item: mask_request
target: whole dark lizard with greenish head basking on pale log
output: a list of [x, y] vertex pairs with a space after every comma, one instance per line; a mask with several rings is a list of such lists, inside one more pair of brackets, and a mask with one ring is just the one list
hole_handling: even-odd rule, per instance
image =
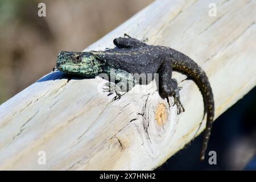
[[[159, 94], [167, 100], [168, 97], [174, 97], [177, 114], [185, 110], [180, 102], [179, 90], [181, 88], [177, 80], [172, 78], [172, 71], [187, 75], [199, 87], [204, 101], [204, 115], [207, 113], [200, 152], [200, 160], [204, 160], [214, 118], [214, 98], [210, 82], [203, 69], [184, 53], [169, 47], [151, 46], [127, 34], [124, 37], [115, 38], [113, 43], [115, 48], [105, 51], [61, 51], [57, 56], [56, 68], [68, 75], [82, 77], [95, 77], [100, 73], [107, 73], [111, 76], [110, 69], [115, 69], [116, 82], [128, 81], [127, 73], [158, 73]], [[121, 98], [119, 93], [121, 88], [114, 89], [117, 98]]]

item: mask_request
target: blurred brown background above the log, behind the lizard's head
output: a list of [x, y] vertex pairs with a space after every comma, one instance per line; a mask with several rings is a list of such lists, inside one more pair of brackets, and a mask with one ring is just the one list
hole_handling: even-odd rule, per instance
[[0, 104], [50, 72], [59, 51], [82, 51], [152, 1], [0, 0]]

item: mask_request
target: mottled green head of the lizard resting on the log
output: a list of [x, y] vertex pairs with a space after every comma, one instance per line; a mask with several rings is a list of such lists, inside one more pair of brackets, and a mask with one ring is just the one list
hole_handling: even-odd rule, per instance
[[94, 77], [102, 71], [101, 66], [91, 52], [61, 51], [57, 56], [57, 69], [69, 75]]

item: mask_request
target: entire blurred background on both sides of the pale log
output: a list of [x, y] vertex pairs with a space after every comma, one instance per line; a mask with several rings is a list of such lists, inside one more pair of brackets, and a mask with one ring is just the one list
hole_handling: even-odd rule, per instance
[[[81, 51], [152, 1], [48, 0], [41, 18], [42, 1], [0, 0], [0, 104], [50, 72], [59, 51]], [[200, 136], [158, 169], [243, 169], [256, 151], [255, 96], [254, 88], [214, 123], [216, 166], [199, 161]]]

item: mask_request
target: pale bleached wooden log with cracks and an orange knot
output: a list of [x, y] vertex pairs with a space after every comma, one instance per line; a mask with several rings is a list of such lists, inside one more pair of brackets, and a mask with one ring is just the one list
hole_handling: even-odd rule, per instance
[[[216, 17], [208, 15], [209, 3], [216, 3]], [[255, 1], [156, 1], [87, 49], [113, 47], [127, 33], [185, 53], [207, 72], [218, 117], [256, 84], [255, 12]], [[197, 86], [174, 77], [183, 86], [178, 116], [152, 85], [112, 102], [100, 78], [67, 82], [49, 73], [0, 106], [0, 169], [156, 168], [205, 125], [199, 129]], [[38, 164], [39, 151], [46, 165]]]

